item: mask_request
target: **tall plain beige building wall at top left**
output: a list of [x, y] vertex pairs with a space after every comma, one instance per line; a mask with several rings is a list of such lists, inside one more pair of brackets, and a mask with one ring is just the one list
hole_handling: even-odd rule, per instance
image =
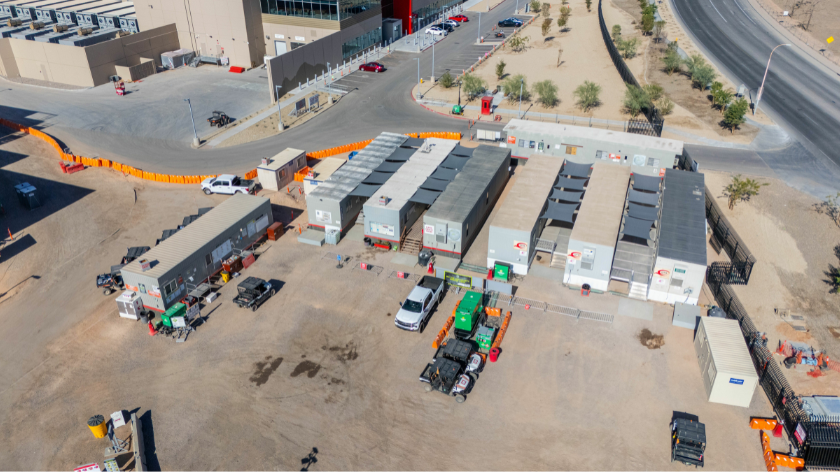
[[175, 24], [181, 47], [251, 68], [265, 55], [259, 0], [136, 0], [139, 24]]

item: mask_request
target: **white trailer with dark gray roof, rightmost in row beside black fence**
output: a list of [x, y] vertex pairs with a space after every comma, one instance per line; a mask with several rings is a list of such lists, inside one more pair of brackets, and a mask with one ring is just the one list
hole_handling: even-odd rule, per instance
[[648, 299], [696, 305], [706, 277], [703, 174], [665, 171], [659, 243]]

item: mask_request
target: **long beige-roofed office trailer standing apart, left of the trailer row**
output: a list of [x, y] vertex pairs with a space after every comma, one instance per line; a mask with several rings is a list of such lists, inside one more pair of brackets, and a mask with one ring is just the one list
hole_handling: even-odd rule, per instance
[[[165, 311], [222, 270], [222, 260], [251, 247], [274, 222], [267, 198], [237, 194], [122, 268], [127, 290], [150, 310]], [[143, 261], [149, 269], [143, 270]]]

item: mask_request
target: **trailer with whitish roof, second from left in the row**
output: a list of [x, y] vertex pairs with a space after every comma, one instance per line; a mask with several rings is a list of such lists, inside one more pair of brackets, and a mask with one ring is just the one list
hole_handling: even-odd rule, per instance
[[403, 230], [411, 228], [429, 205], [412, 198], [457, 144], [451, 139], [427, 139], [365, 203], [365, 236], [399, 244]]

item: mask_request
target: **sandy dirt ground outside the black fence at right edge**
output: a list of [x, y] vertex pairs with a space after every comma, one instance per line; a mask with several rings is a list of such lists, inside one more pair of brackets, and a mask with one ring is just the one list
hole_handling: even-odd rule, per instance
[[[730, 174], [705, 175], [709, 190], [721, 196]], [[726, 208], [724, 197], [718, 199], [724, 215], [758, 261], [749, 283], [734, 286], [735, 293], [756, 326], [766, 331], [771, 350], [779, 340], [787, 339], [826, 349], [832, 359], [840, 356], [840, 339], [835, 334], [840, 333], [840, 295], [829, 294], [830, 287], [824, 282], [829, 264], [840, 264], [834, 256], [840, 228], [814, 210], [819, 200], [776, 179], [758, 180], [769, 185], [733, 211]], [[806, 317], [809, 332], [795, 331], [776, 315], [777, 308]], [[830, 395], [840, 389], [840, 373], [829, 370], [826, 377], [813, 379], [806, 375], [808, 370], [800, 366], [785, 371], [796, 393]]]

